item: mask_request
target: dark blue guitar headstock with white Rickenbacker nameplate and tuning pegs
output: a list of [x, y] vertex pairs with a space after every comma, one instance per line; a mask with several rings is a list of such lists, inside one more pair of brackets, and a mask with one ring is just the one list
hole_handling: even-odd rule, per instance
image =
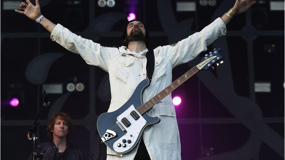
[[205, 57], [202, 58], [202, 61], [196, 66], [199, 70], [206, 69], [208, 70], [210, 67], [214, 69], [214, 67], [219, 66], [224, 61], [221, 61], [224, 57], [222, 57], [219, 52], [222, 51], [221, 48], [214, 49], [213, 52], [206, 54]]

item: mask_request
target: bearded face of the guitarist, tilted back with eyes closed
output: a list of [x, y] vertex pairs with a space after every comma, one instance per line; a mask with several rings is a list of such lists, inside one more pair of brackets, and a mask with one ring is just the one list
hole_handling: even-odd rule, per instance
[[130, 42], [145, 42], [145, 26], [139, 22], [139, 21], [133, 21], [127, 26], [127, 37], [126, 37], [126, 43]]

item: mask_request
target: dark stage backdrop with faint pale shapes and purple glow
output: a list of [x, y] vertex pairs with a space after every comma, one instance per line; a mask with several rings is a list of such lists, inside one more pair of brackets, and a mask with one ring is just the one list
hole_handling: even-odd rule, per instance
[[[115, 0], [113, 7], [100, 7], [98, 0], [39, 1], [46, 18], [106, 47], [121, 46], [128, 14], [135, 13], [147, 25], [153, 48], [200, 31], [234, 2]], [[26, 134], [41, 108], [43, 89], [51, 105], [41, 115], [38, 141], [48, 140], [51, 115], [67, 112], [75, 125], [69, 142], [90, 159], [98, 152], [97, 118], [110, 104], [108, 73], [15, 13], [18, 3], [1, 1], [1, 159], [27, 159], [32, 151]], [[173, 69], [173, 80], [213, 48], [222, 48], [223, 65], [197, 73], [172, 93], [182, 99], [175, 106], [182, 159], [284, 159], [284, 1], [258, 0], [234, 17], [225, 36]], [[10, 105], [12, 98], [18, 106]]]

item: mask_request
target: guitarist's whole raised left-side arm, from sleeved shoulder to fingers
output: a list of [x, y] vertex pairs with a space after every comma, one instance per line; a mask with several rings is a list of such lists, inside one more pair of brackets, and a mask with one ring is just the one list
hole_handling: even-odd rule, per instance
[[[39, 0], [36, 0], [36, 6], [29, 0], [26, 1], [27, 3], [22, 2], [20, 4], [20, 8], [24, 11], [15, 10], [15, 12], [24, 14], [31, 20], [36, 20], [41, 16]], [[117, 48], [103, 47], [91, 40], [77, 36], [62, 25], [55, 25], [46, 17], [42, 17], [39, 23], [51, 32], [51, 39], [53, 41], [56, 41], [71, 52], [80, 54], [87, 64], [99, 66], [105, 71], [108, 71], [111, 58], [119, 53]]]

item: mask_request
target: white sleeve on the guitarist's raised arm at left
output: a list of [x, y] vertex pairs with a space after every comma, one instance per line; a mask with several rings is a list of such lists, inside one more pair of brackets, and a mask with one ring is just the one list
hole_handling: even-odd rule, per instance
[[67, 50], [80, 54], [87, 64], [99, 66], [107, 72], [111, 59], [119, 53], [118, 48], [103, 47], [92, 40], [77, 36], [60, 24], [51, 32], [51, 39]]

